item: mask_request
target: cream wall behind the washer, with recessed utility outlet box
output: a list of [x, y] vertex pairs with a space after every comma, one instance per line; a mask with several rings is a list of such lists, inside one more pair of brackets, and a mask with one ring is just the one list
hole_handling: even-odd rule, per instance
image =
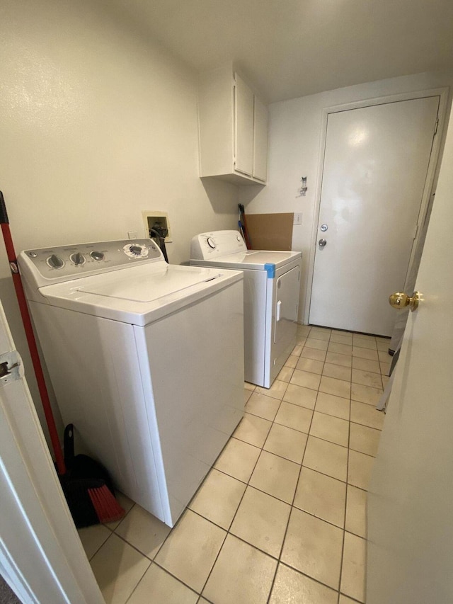
[[[139, 23], [109, 3], [4, 0], [0, 49], [0, 190], [16, 252], [143, 237], [142, 210], [160, 210], [180, 263], [194, 234], [236, 226], [237, 188], [198, 178], [195, 74]], [[36, 402], [1, 242], [0, 285]]]

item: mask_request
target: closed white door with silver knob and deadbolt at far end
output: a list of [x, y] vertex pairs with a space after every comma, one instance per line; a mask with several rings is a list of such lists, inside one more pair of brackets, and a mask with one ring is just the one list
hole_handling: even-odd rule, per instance
[[439, 101], [328, 115], [310, 324], [391, 336], [387, 299], [404, 286]]

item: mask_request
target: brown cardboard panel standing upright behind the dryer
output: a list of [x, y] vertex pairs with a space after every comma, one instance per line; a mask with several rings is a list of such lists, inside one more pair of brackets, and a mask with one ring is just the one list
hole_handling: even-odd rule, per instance
[[247, 214], [252, 249], [291, 251], [294, 214]]

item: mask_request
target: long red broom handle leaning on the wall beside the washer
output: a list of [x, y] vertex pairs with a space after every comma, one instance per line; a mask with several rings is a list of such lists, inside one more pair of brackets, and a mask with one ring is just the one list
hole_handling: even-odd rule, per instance
[[38, 354], [38, 347], [36, 346], [35, 334], [33, 334], [33, 326], [31, 324], [30, 313], [28, 312], [28, 306], [27, 301], [25, 299], [25, 293], [23, 291], [21, 275], [19, 274], [18, 270], [16, 252], [14, 251], [13, 239], [11, 238], [11, 232], [9, 230], [9, 222], [8, 215], [6, 214], [5, 200], [1, 191], [0, 224], [1, 232], [3, 233], [3, 238], [5, 241], [6, 254], [8, 256], [9, 266], [11, 268], [11, 274], [13, 275], [14, 289], [16, 290], [19, 309], [21, 310], [23, 326], [25, 328], [25, 336], [27, 336], [28, 348], [30, 348], [31, 360], [33, 362], [33, 368], [35, 370], [36, 381], [38, 382], [38, 389], [42, 401], [42, 409], [44, 409], [45, 421], [47, 422], [47, 428], [49, 428], [50, 440], [52, 442], [52, 448], [55, 453], [57, 470], [58, 474], [62, 476], [62, 474], [66, 474], [66, 466], [64, 465], [62, 448], [59, 444], [57, 426], [55, 426], [55, 418], [52, 414], [52, 406], [50, 405], [49, 394], [47, 393], [44, 374], [42, 373], [40, 355]]

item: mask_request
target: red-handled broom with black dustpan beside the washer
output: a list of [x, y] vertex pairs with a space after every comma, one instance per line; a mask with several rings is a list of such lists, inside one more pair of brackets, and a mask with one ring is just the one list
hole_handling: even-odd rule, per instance
[[[1, 191], [0, 224], [9, 266], [13, 276], [14, 289], [16, 290], [19, 309], [21, 311], [25, 336], [27, 337], [28, 348], [30, 349], [36, 381], [38, 382], [42, 409], [44, 410], [45, 421], [47, 423], [47, 428], [49, 428], [50, 442], [52, 443], [52, 449], [55, 454], [57, 474], [59, 476], [60, 484], [62, 485], [64, 496], [67, 500], [69, 511], [71, 512], [76, 527], [79, 528], [120, 520], [120, 518], [125, 515], [125, 511], [120, 504], [117, 503], [115, 496], [113, 495], [113, 485], [107, 470], [98, 462], [86, 457], [86, 455], [76, 455], [76, 457], [74, 457], [74, 444], [72, 444], [71, 448], [69, 437], [69, 431], [71, 432], [71, 435], [74, 432], [72, 424], [69, 424], [70, 428], [67, 426], [68, 435], [66, 439], [68, 447], [67, 459], [71, 464], [71, 469], [69, 471], [64, 462], [62, 449], [59, 444], [57, 426], [55, 426], [55, 418], [52, 413], [52, 406], [50, 405], [44, 374], [42, 373], [42, 366], [38, 354], [38, 347], [36, 346], [35, 334], [33, 333], [30, 313], [28, 312], [27, 301], [23, 291], [21, 275], [19, 274], [16, 251], [14, 250], [13, 239], [11, 238], [9, 229], [5, 200]], [[86, 459], [78, 461], [79, 457], [85, 457]], [[87, 462], [87, 460], [90, 460], [90, 462]]]

